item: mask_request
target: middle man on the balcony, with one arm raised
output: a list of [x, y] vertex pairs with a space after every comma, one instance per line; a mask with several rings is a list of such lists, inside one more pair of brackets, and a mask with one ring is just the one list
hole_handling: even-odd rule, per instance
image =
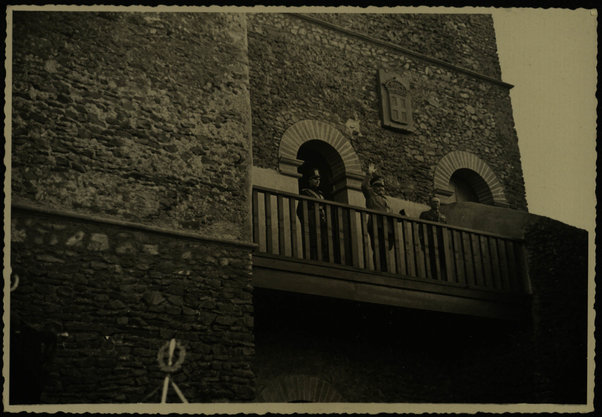
[[[385, 180], [380, 175], [375, 174], [375, 168], [373, 164], [368, 166], [368, 174], [364, 178], [364, 182], [362, 183], [362, 192], [364, 193], [364, 197], [366, 198], [366, 208], [371, 210], [378, 210], [384, 213], [388, 213], [391, 211], [389, 206], [389, 201], [385, 196]], [[388, 218], [387, 219], [387, 227], [388, 233], [387, 238], [389, 244], [385, 244], [385, 231], [384, 231], [384, 216], [376, 217], [376, 229], [377, 236], [374, 236], [374, 228], [372, 217], [374, 214], [370, 215], [370, 219], [368, 220], [368, 234], [370, 235], [370, 240], [372, 242], [372, 251], [374, 252], [374, 263], [376, 265], [376, 257], [380, 261], [380, 268], [382, 271], [387, 271], [387, 251], [393, 248], [394, 242], [394, 233], [393, 233], [393, 221]], [[378, 239], [378, 255], [376, 254], [375, 240]]]

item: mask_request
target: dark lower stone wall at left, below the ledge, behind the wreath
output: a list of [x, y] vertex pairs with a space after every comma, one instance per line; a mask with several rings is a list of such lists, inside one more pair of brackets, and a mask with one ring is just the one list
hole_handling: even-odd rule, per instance
[[58, 335], [42, 402], [140, 402], [171, 338], [188, 401], [254, 397], [249, 248], [15, 210], [11, 261], [12, 315]]

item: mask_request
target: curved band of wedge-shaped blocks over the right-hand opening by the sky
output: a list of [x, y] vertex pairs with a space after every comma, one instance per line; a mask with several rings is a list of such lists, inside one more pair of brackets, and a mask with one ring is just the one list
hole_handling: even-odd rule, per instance
[[449, 190], [449, 180], [459, 169], [470, 169], [476, 172], [489, 187], [493, 202], [507, 204], [504, 187], [493, 170], [478, 156], [466, 151], [453, 151], [445, 155], [435, 168], [433, 185], [435, 190]]

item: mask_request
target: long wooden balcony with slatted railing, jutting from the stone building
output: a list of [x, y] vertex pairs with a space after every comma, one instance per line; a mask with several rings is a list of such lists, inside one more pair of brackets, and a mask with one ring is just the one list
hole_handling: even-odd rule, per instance
[[253, 188], [253, 283], [412, 309], [520, 319], [524, 242]]

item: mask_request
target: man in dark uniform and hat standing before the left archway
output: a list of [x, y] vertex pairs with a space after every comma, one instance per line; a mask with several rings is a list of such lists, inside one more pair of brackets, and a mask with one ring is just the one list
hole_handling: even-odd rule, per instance
[[[324, 200], [324, 195], [320, 191], [320, 171], [317, 169], [311, 169], [306, 172], [301, 179], [302, 188], [301, 195]], [[302, 229], [302, 241], [303, 248], [305, 251], [306, 239], [309, 236], [309, 254], [305, 253], [306, 259], [318, 259], [318, 228], [316, 224], [315, 210], [318, 210], [318, 216], [320, 219], [320, 244], [322, 248], [322, 259], [328, 261], [328, 228], [326, 223], [326, 211], [322, 204], [314, 203], [313, 201], [307, 202], [307, 219], [303, 213], [303, 201], [299, 202], [297, 206], [297, 216], [301, 222]], [[307, 233], [306, 233], [307, 232]]]

